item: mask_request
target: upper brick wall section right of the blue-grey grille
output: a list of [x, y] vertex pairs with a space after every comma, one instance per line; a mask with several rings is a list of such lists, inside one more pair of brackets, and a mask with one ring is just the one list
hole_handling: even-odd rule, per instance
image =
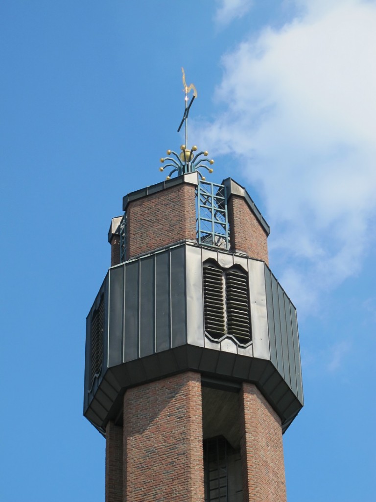
[[231, 250], [269, 264], [265, 230], [243, 197], [232, 195], [228, 203]]

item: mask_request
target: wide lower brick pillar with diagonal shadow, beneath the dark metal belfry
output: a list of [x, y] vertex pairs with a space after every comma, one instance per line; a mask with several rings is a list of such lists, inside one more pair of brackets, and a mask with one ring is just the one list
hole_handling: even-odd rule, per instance
[[124, 396], [124, 500], [203, 502], [201, 377], [185, 372]]

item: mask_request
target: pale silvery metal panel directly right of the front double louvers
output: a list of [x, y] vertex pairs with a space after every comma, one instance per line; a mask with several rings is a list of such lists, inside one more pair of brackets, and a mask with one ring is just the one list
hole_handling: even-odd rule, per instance
[[264, 262], [248, 261], [254, 357], [270, 359]]

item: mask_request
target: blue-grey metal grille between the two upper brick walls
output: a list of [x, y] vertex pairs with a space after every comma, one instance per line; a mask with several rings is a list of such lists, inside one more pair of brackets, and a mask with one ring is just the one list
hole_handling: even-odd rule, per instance
[[199, 181], [197, 187], [197, 240], [201, 244], [229, 248], [226, 187]]

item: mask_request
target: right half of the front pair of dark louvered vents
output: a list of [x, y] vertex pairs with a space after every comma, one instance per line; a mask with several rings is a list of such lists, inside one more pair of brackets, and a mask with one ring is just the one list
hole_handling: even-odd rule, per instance
[[251, 340], [248, 278], [240, 270], [226, 272], [227, 327], [240, 343]]

